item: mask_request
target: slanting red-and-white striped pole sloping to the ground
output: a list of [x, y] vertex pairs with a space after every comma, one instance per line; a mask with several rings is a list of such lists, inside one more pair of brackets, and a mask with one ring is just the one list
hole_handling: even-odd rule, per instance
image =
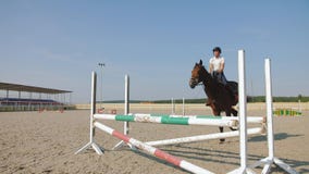
[[154, 156], [154, 157], [157, 157], [157, 158], [159, 158], [161, 160], [164, 160], [164, 161], [166, 161], [166, 162], [169, 162], [169, 163], [171, 163], [173, 165], [182, 167], [182, 169], [184, 169], [184, 170], [186, 170], [188, 172], [196, 173], [196, 174], [201, 174], [201, 173], [202, 174], [213, 174], [212, 172], [210, 172], [210, 171], [208, 171], [206, 169], [202, 169], [200, 166], [191, 164], [191, 163], [189, 163], [189, 162], [187, 162], [185, 160], [181, 160], [181, 159], [178, 159], [178, 158], [176, 158], [176, 157], [174, 157], [172, 154], [169, 154], [169, 153], [166, 153], [164, 151], [161, 151], [160, 149], [157, 149], [157, 148], [154, 148], [152, 146], [146, 145], [146, 144], [144, 144], [144, 142], [137, 140], [137, 139], [131, 138], [131, 137], [128, 137], [128, 136], [126, 136], [126, 135], [124, 135], [124, 134], [122, 134], [120, 132], [116, 132], [113, 128], [108, 127], [108, 126], [106, 126], [106, 125], [103, 125], [103, 124], [101, 124], [99, 122], [95, 122], [95, 126], [97, 128], [99, 128], [99, 129], [110, 134], [113, 137], [116, 137], [116, 138], [121, 139], [121, 140], [127, 142], [127, 144], [131, 144], [131, 145], [135, 146], [136, 148], [138, 148], [138, 149], [140, 149], [140, 150], [143, 150], [143, 151], [145, 151], [145, 152], [147, 152], [147, 153], [149, 153], [151, 156]]

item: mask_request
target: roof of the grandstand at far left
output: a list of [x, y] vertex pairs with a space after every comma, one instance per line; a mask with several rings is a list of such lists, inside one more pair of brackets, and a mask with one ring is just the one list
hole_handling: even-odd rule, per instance
[[28, 92], [40, 92], [40, 94], [67, 94], [72, 92], [69, 90], [51, 89], [36, 86], [18, 85], [0, 83], [0, 90], [13, 90], [13, 91], [28, 91]]

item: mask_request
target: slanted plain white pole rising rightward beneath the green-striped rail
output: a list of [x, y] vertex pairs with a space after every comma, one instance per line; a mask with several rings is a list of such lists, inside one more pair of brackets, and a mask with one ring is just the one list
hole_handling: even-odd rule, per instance
[[[264, 134], [264, 132], [265, 132], [264, 127], [257, 127], [257, 128], [249, 128], [247, 130], [247, 134], [256, 135], [256, 134]], [[196, 142], [196, 141], [203, 141], [203, 140], [211, 140], [211, 139], [231, 138], [231, 137], [238, 137], [238, 136], [239, 136], [239, 130], [235, 130], [235, 132], [215, 133], [215, 134], [208, 134], [208, 135], [197, 135], [197, 136], [191, 136], [191, 137], [148, 141], [145, 144], [150, 145], [150, 146], [163, 146], [163, 145]]]

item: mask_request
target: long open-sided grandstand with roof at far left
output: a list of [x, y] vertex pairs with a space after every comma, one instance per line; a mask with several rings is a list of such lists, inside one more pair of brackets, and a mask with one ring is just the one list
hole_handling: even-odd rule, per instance
[[0, 83], [0, 111], [66, 110], [72, 91]]

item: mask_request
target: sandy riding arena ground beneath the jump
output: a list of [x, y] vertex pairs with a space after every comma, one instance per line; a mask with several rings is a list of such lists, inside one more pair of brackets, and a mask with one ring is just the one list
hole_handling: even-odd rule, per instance
[[[162, 112], [153, 109], [151, 111]], [[145, 110], [133, 109], [132, 112]], [[199, 110], [187, 111], [187, 114], [210, 114], [210, 110], [200, 107]], [[262, 110], [248, 111], [248, 115], [264, 114]], [[275, 156], [297, 172], [309, 173], [309, 112], [305, 111], [304, 115], [274, 117]], [[122, 122], [100, 122], [118, 130], [123, 127]], [[141, 141], [218, 132], [218, 127], [210, 126], [131, 123], [131, 136]], [[258, 135], [248, 139], [250, 163], [267, 157], [265, 136]], [[88, 110], [64, 113], [0, 112], [0, 173], [187, 173], [127, 147], [112, 151], [119, 140], [100, 130], [96, 132], [96, 141], [104, 148], [103, 156], [98, 156], [94, 150], [74, 154], [88, 140]], [[223, 145], [219, 145], [219, 140], [210, 140], [163, 146], [160, 149], [215, 173], [226, 173], [239, 166], [238, 138], [228, 138]], [[255, 171], [261, 172], [261, 169]], [[284, 173], [275, 167], [272, 172]]]

